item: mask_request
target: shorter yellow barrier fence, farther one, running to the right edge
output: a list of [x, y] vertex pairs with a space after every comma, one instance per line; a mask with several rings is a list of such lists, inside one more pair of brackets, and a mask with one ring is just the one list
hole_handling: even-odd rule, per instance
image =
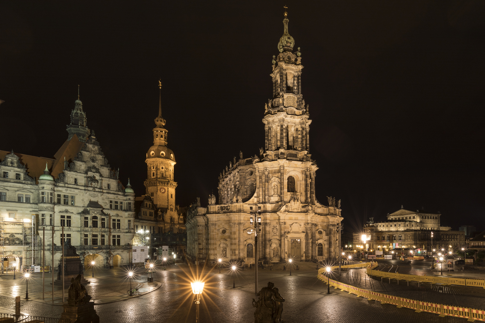
[[378, 270], [372, 270], [370, 268], [367, 268], [367, 274], [372, 276], [410, 280], [410, 281], [419, 281], [419, 282], [432, 283], [432, 284], [439, 283], [439, 284], [475, 286], [475, 287], [485, 288], [485, 279], [406, 275], [406, 274], [382, 272]]

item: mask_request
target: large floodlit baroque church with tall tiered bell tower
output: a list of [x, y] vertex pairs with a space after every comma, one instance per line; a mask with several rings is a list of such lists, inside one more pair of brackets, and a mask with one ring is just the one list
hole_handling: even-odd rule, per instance
[[[218, 201], [187, 211], [187, 256], [243, 264], [330, 261], [340, 250], [340, 202], [316, 198], [318, 169], [310, 154], [309, 107], [302, 95], [301, 52], [293, 53], [288, 18], [273, 57], [273, 95], [264, 108], [264, 149], [229, 163], [219, 174]], [[260, 211], [259, 260], [255, 259], [253, 212]]]

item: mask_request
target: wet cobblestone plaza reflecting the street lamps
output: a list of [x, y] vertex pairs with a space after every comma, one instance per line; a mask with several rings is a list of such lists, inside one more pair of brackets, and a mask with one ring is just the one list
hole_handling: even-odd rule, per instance
[[[424, 263], [411, 267], [398, 261], [382, 261], [381, 268], [384, 271], [386, 266], [389, 268], [393, 264], [394, 268], [399, 265], [400, 273], [422, 275], [427, 271]], [[141, 287], [146, 282], [146, 275], [145, 270], [140, 269], [137, 278], [132, 282], [133, 287]], [[127, 299], [125, 290], [129, 288], [129, 280], [124, 278], [123, 270], [100, 269], [98, 272], [95, 271], [96, 279], [93, 279], [93, 287], [89, 291], [95, 299], [103, 293], [113, 297], [113, 303], [95, 306], [100, 322], [195, 322], [194, 295], [190, 287], [190, 281], [195, 276], [197, 273], [194, 267], [190, 268], [183, 264], [171, 266], [166, 271], [157, 271], [154, 274], [154, 280], [161, 283], [160, 288], [154, 284], [152, 292], [146, 290], [146, 294]], [[256, 298], [254, 270], [239, 270], [233, 276], [232, 270], [229, 269], [222, 269], [221, 274], [217, 269], [210, 269], [202, 270], [198, 276], [206, 283], [200, 305], [201, 322], [249, 323], [254, 321], [254, 308], [251, 304], [252, 299]], [[338, 289], [331, 288], [331, 294], [326, 294], [326, 284], [316, 276], [316, 268], [298, 271], [293, 268], [291, 276], [288, 270], [259, 270], [259, 288], [266, 285], [268, 281], [275, 283], [275, 287], [286, 299], [283, 308], [285, 322], [465, 322], [461, 318], [439, 317], [436, 314], [418, 313], [407, 308], [396, 308], [389, 304], [368, 301]], [[334, 275], [335, 277], [338, 276]], [[23, 298], [25, 281], [22, 279], [14, 281], [11, 276], [0, 279], [2, 282], [0, 306], [12, 309], [15, 307], [15, 299], [5, 295], [8, 295], [11, 289]], [[383, 282], [380, 279], [369, 280], [364, 269], [351, 270], [350, 273], [343, 272], [340, 280], [345, 283], [350, 282], [357, 287], [403, 297], [433, 298], [449, 305], [466, 304], [484, 308], [485, 290], [481, 288], [465, 290], [457, 286], [438, 285], [430, 288], [429, 284], [421, 284], [418, 287], [416, 283], [410, 283], [407, 286], [404, 281], [400, 285], [395, 281], [389, 284], [386, 279]], [[233, 282], [236, 288], [232, 288]], [[30, 281], [29, 289], [32, 288], [34, 293], [41, 292], [41, 283], [41, 277], [35, 277]], [[7, 285], [9, 287], [5, 288]], [[46, 284], [46, 289], [49, 288], [50, 286]], [[59, 291], [54, 294], [56, 297], [60, 295]], [[120, 301], [116, 301], [116, 297]], [[21, 312], [60, 317], [62, 307], [38, 301], [22, 301]]]

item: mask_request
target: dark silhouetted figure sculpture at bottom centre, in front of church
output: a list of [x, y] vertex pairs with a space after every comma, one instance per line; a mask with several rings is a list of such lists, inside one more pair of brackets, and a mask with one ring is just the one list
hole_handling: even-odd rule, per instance
[[268, 282], [268, 287], [263, 287], [257, 294], [258, 301], [253, 298], [254, 323], [276, 323], [283, 322], [281, 313], [283, 312], [283, 302], [275, 284]]

